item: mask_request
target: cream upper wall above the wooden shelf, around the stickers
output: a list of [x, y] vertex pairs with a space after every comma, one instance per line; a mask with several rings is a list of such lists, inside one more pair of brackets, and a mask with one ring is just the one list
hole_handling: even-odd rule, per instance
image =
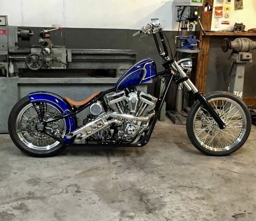
[[211, 22], [211, 30], [213, 31], [219, 31], [223, 29], [231, 30], [234, 27], [235, 23], [243, 23], [246, 27], [245, 30], [251, 28], [256, 28], [256, 0], [243, 0], [243, 9], [234, 10], [234, 0], [231, 0], [231, 4], [225, 4], [226, 1], [224, 1], [224, 4], [216, 4], [216, 1], [214, 0], [214, 7], [215, 6], [231, 6], [231, 11], [229, 14], [229, 18], [224, 17], [224, 11], [223, 11], [223, 17], [220, 18], [220, 20], [229, 20], [229, 25], [222, 25], [220, 24], [219, 28], [215, 28], [215, 8], [213, 9], [212, 13], [212, 22]]

